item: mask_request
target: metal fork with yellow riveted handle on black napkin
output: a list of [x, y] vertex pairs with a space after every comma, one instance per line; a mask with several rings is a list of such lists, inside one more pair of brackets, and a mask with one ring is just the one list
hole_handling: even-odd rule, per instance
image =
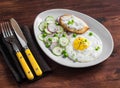
[[11, 30], [9, 22], [3, 22], [0, 24], [0, 26], [2, 29], [3, 37], [5, 38], [5, 40], [7, 42], [9, 42], [12, 45], [14, 51], [16, 52], [16, 56], [17, 56], [18, 61], [20, 62], [21, 66], [23, 68], [23, 71], [24, 71], [26, 77], [29, 80], [34, 79], [33, 73], [31, 72], [31, 70], [30, 70], [29, 66], [27, 65], [22, 53], [20, 52], [18, 46], [15, 43], [15, 37], [14, 37], [14, 34]]

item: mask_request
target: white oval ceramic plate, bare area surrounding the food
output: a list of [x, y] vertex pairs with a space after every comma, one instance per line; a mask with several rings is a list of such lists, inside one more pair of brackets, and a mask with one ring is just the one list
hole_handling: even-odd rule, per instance
[[[53, 16], [54, 18], [57, 18], [58, 16], [61, 16], [63, 14], [72, 14], [77, 17], [80, 17], [89, 25], [90, 30], [95, 32], [101, 38], [103, 43], [103, 52], [99, 56], [99, 58], [87, 63], [73, 62], [69, 59], [64, 59], [53, 55], [51, 51], [45, 47], [44, 43], [39, 40], [38, 35], [40, 31], [38, 29], [38, 25], [40, 24], [40, 22], [45, 20], [47, 16]], [[101, 63], [111, 55], [114, 47], [113, 38], [110, 32], [101, 23], [99, 23], [98, 21], [96, 21], [95, 19], [91, 18], [88, 15], [68, 9], [51, 9], [38, 14], [38, 16], [34, 21], [34, 35], [39, 46], [47, 56], [49, 56], [53, 61], [68, 67], [82, 68], [82, 67], [89, 67]]]

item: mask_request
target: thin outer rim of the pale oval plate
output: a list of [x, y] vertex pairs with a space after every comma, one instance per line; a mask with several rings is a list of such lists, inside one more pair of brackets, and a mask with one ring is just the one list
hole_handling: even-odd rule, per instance
[[[97, 61], [96, 63], [92, 63], [92, 62], [94, 62], [94, 61], [90, 61], [91, 63], [89, 62], [89, 63], [90, 63], [89, 65], [84, 64], [84, 65], [82, 65], [82, 66], [65, 65], [65, 64], [62, 64], [62, 63], [60, 63], [60, 62], [52, 59], [49, 55], [47, 55], [47, 53], [45, 53], [45, 51], [41, 48], [41, 46], [40, 46], [40, 44], [39, 44], [39, 42], [38, 42], [38, 40], [37, 40], [37, 36], [36, 36], [36, 34], [35, 34], [35, 22], [36, 22], [36, 19], [39, 17], [40, 14], [46, 13], [46, 12], [48, 12], [48, 11], [58, 11], [58, 10], [59, 10], [59, 11], [60, 11], [60, 10], [62, 10], [62, 11], [71, 11], [71, 12], [75, 12], [75, 13], [78, 13], [78, 14], [85, 15], [85, 16], [87, 16], [88, 18], [94, 20], [94, 21], [95, 21], [97, 24], [99, 24], [101, 27], [103, 27], [104, 30], [108, 33], [108, 35], [109, 35], [109, 37], [110, 37], [110, 39], [111, 39], [111, 43], [112, 43], [112, 44], [111, 44], [112, 47], [111, 47], [111, 51], [109, 51], [109, 55], [107, 55], [106, 58], [104, 58], [104, 59], [102, 59], [102, 60], [99, 60], [99, 62]], [[40, 13], [36, 16], [36, 18], [35, 18], [35, 20], [34, 20], [33, 30], [34, 30], [35, 39], [36, 39], [39, 47], [42, 49], [42, 51], [43, 51], [50, 59], [52, 59], [52, 60], [55, 61], [56, 63], [61, 64], [61, 65], [63, 65], [63, 66], [67, 66], [67, 67], [83, 68], [83, 67], [90, 67], [90, 66], [97, 65], [97, 64], [99, 64], [99, 63], [107, 60], [107, 59], [110, 57], [110, 55], [112, 54], [113, 49], [114, 49], [114, 40], [113, 40], [113, 38], [112, 38], [112, 35], [111, 35], [110, 31], [109, 31], [103, 24], [101, 24], [99, 21], [97, 21], [96, 19], [92, 18], [91, 16], [89, 16], [89, 15], [87, 15], [87, 14], [84, 14], [84, 13], [81, 13], [81, 12], [78, 12], [78, 11], [75, 11], [75, 10], [70, 10], [70, 9], [49, 9], [49, 10], [45, 10], [45, 11], [43, 11], [43, 12], [40, 12]]]

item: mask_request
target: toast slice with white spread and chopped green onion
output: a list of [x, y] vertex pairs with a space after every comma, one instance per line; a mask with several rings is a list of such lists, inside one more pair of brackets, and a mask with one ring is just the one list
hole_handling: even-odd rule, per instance
[[80, 18], [65, 14], [59, 18], [60, 25], [67, 31], [82, 34], [85, 33], [89, 26]]

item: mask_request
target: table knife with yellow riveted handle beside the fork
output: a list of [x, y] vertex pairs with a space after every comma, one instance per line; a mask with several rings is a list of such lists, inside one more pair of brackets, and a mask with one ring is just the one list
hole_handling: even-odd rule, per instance
[[25, 54], [35, 72], [35, 74], [37, 76], [41, 76], [42, 75], [42, 70], [40, 68], [40, 66], [38, 65], [37, 61], [35, 60], [35, 57], [33, 56], [33, 54], [31, 53], [28, 45], [27, 45], [27, 40], [25, 38], [25, 36], [23, 35], [21, 28], [19, 27], [18, 23], [16, 22], [16, 20], [14, 18], [10, 19], [10, 23], [13, 27], [13, 30], [20, 42], [20, 44], [22, 45], [22, 47], [25, 49]]

